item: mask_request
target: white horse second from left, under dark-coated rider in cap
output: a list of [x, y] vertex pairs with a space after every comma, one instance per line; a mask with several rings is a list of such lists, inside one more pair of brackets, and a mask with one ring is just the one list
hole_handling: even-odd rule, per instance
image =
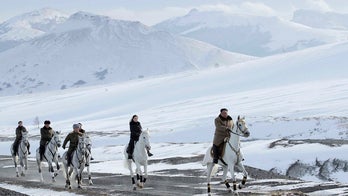
[[[58, 175], [58, 171], [60, 169], [58, 163], [58, 147], [61, 146], [60, 132], [53, 132], [53, 137], [50, 142], [48, 142], [46, 146], [45, 153], [42, 155], [42, 161], [40, 160], [40, 152], [39, 148], [36, 150], [36, 162], [39, 168], [40, 180], [43, 182], [41, 162], [46, 161], [48, 163], [48, 171], [51, 173], [52, 182], [55, 182], [55, 177]], [[52, 163], [56, 164], [57, 171], [55, 172], [53, 169]]]

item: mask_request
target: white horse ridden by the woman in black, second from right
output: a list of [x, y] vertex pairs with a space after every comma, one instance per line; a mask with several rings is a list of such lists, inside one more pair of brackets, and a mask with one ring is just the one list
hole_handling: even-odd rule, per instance
[[[128, 159], [127, 153], [128, 144], [124, 148], [124, 157], [125, 157], [125, 165], [128, 167], [130, 175], [132, 177], [133, 190], [136, 190], [136, 186], [139, 188], [143, 188], [147, 179], [147, 150], [151, 149], [150, 141], [149, 141], [149, 131], [141, 132], [139, 136], [139, 141], [137, 141], [134, 145], [133, 152], [133, 160]], [[137, 174], [137, 185], [134, 180], [134, 172], [132, 168], [132, 162], [135, 163], [136, 166], [136, 174]], [[143, 172], [141, 170], [141, 166], [144, 167], [145, 176], [143, 177]]]

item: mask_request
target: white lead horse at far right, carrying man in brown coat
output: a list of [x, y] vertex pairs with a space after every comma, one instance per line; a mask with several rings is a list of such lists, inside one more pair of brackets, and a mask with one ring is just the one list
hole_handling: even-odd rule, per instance
[[[237, 183], [236, 178], [234, 175], [234, 167], [237, 166], [242, 172], [243, 172], [243, 180], [242, 185], [239, 185], [238, 187], [241, 189], [245, 183], [248, 176], [247, 171], [245, 170], [243, 164], [242, 164], [242, 155], [240, 152], [240, 141], [239, 137], [249, 137], [250, 132], [248, 130], [248, 127], [245, 123], [245, 118], [240, 118], [238, 116], [238, 120], [236, 121], [236, 124], [233, 126], [231, 133], [231, 137], [228, 138], [226, 142], [226, 148], [225, 153], [222, 157], [222, 160], [219, 160], [218, 164], [213, 163], [213, 158], [211, 157], [211, 147], [208, 148], [204, 159], [203, 159], [203, 165], [207, 165], [207, 181], [208, 181], [208, 194], [210, 195], [210, 178], [211, 175], [213, 175], [217, 171], [217, 165], [222, 166], [223, 168], [223, 176], [222, 180], [224, 181], [227, 189], [230, 192], [235, 193], [237, 190]], [[226, 165], [227, 164], [227, 165]], [[228, 183], [228, 180], [226, 180], [227, 172], [230, 171], [232, 181], [233, 181], [233, 190], [231, 190], [230, 184]], [[238, 194], [238, 193], [237, 193]]]

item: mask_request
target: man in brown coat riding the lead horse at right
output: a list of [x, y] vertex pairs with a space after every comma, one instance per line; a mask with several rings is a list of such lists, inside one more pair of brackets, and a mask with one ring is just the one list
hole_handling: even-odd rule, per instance
[[229, 138], [230, 131], [233, 128], [233, 120], [231, 116], [228, 115], [228, 110], [222, 108], [220, 110], [220, 115], [215, 118], [215, 134], [213, 141], [213, 163], [218, 163], [220, 153], [219, 147], [224, 144], [225, 138]]

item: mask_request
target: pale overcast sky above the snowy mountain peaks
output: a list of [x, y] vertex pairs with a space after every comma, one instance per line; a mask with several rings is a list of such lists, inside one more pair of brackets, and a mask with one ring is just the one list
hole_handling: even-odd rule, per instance
[[0, 22], [41, 8], [53, 8], [67, 14], [87, 11], [153, 25], [185, 15], [192, 8], [284, 18], [291, 18], [297, 9], [348, 13], [348, 0], [0, 0]]

